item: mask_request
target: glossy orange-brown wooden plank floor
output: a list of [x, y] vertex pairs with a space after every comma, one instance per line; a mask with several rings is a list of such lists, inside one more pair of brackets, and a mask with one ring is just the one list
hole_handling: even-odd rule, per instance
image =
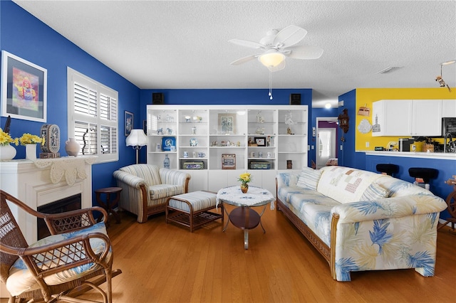
[[[225, 218], [227, 220], [227, 218]], [[137, 223], [122, 213], [110, 224], [113, 302], [455, 302], [456, 235], [438, 233], [434, 277], [415, 270], [353, 272], [331, 278], [328, 263], [280, 211], [269, 207], [249, 234], [220, 220], [190, 233], [165, 216]], [[92, 291], [81, 297], [100, 299]]]

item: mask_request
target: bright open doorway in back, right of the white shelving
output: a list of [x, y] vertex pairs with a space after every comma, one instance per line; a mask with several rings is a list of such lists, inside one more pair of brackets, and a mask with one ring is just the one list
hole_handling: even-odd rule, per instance
[[316, 169], [326, 166], [329, 159], [337, 159], [337, 117], [316, 118]]

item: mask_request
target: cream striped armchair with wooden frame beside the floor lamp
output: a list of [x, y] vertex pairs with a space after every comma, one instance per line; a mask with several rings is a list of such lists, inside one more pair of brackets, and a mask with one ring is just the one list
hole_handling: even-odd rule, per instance
[[190, 175], [175, 169], [163, 169], [150, 164], [133, 164], [114, 171], [119, 187], [119, 207], [138, 216], [139, 223], [166, 210], [170, 196], [187, 193]]

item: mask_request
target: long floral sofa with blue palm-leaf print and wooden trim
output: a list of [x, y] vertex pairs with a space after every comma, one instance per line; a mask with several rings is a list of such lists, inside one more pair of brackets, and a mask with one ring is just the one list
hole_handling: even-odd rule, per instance
[[437, 223], [447, 204], [392, 176], [326, 166], [276, 176], [277, 209], [321, 252], [333, 279], [415, 268], [434, 275]]

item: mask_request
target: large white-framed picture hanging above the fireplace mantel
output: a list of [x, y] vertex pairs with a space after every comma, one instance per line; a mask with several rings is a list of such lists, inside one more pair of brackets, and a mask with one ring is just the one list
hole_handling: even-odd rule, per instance
[[48, 70], [1, 50], [1, 115], [46, 122]]

